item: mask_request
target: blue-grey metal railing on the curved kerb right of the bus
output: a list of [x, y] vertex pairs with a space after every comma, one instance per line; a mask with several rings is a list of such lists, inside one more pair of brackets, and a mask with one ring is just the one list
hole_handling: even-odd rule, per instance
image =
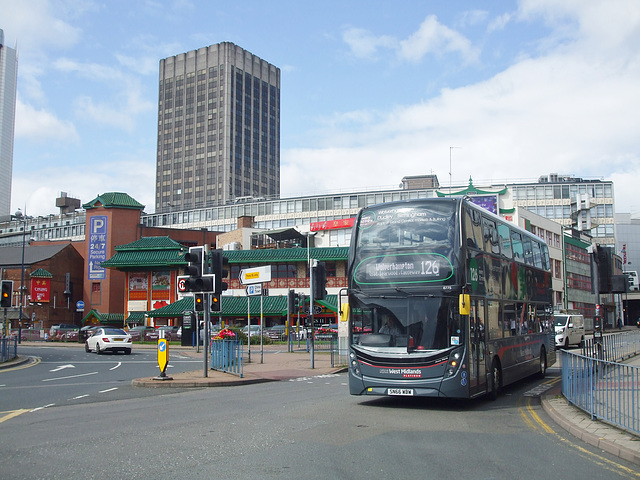
[[640, 436], [640, 367], [617, 363], [640, 354], [640, 332], [586, 342], [580, 355], [561, 352], [562, 394], [591, 418]]

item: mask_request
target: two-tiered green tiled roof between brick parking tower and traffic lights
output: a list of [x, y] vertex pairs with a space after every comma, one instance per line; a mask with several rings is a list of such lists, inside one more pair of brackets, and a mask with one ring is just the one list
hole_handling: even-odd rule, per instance
[[185, 250], [169, 237], [143, 237], [116, 247], [116, 253], [101, 265], [104, 268], [140, 269], [185, 265]]

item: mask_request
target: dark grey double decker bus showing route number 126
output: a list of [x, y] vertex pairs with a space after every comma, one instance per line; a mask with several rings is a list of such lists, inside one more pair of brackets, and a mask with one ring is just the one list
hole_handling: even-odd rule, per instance
[[555, 362], [547, 245], [469, 198], [362, 209], [347, 277], [352, 395], [496, 398]]

